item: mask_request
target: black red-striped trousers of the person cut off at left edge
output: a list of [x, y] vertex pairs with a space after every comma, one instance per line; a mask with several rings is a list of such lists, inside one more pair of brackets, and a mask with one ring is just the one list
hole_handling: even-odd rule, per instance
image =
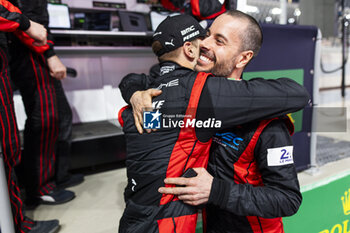
[[4, 156], [5, 172], [16, 232], [28, 232], [33, 222], [24, 215], [20, 189], [17, 185], [15, 167], [21, 160], [21, 143], [13, 105], [10, 85], [8, 54], [5, 45], [0, 45], [0, 143]]

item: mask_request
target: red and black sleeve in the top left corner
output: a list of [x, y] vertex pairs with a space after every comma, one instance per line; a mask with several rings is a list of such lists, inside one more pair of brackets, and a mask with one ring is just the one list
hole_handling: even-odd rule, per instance
[[9, 1], [0, 0], [0, 31], [13, 32], [17, 28], [26, 31], [30, 27], [29, 19]]

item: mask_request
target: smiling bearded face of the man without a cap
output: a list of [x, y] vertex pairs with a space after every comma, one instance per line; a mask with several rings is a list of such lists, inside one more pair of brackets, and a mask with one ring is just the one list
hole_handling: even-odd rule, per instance
[[242, 35], [247, 25], [247, 20], [227, 14], [215, 19], [200, 45], [201, 55], [196, 70], [222, 77], [232, 76], [243, 52]]

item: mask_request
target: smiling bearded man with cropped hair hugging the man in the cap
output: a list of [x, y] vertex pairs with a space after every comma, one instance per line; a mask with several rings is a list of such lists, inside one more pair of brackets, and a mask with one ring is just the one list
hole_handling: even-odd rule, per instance
[[[214, 21], [201, 43], [202, 59], [196, 68], [240, 80], [241, 72], [235, 72], [237, 67], [229, 56], [234, 50], [226, 49], [236, 43], [238, 50], [251, 50], [256, 56], [261, 38], [260, 27], [251, 16], [227, 12]], [[165, 181], [186, 187], [161, 188], [160, 192], [178, 195], [190, 205], [208, 204], [208, 233], [282, 233], [281, 217], [295, 214], [302, 200], [293, 163], [293, 130], [289, 118], [276, 118], [218, 133], [211, 147], [211, 175], [197, 168], [195, 178]]]

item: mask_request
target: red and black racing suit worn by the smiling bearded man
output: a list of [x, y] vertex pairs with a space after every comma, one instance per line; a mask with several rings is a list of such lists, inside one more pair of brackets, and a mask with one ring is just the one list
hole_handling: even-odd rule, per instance
[[295, 214], [302, 200], [293, 163], [293, 130], [285, 117], [213, 137], [206, 232], [284, 232], [281, 217]]

